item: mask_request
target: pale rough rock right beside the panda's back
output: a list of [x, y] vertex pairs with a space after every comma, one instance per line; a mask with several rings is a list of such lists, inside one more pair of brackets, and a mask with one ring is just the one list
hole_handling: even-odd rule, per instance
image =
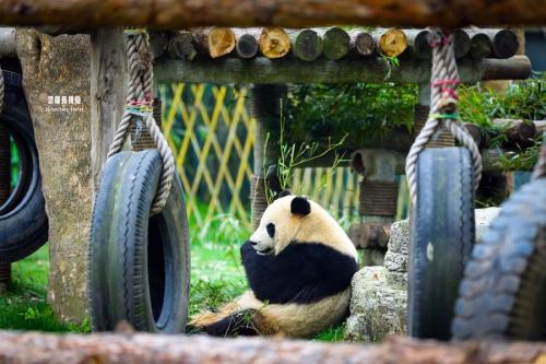
[[384, 267], [365, 267], [353, 278], [351, 317], [345, 338], [380, 341], [406, 331], [406, 282], [404, 273]]

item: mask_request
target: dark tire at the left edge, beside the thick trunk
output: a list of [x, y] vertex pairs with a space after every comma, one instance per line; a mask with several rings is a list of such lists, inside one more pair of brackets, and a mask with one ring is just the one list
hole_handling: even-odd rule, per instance
[[31, 255], [48, 238], [48, 220], [41, 193], [38, 152], [21, 75], [3, 71], [5, 96], [0, 124], [17, 145], [20, 180], [5, 203], [0, 206], [0, 262], [12, 262]]

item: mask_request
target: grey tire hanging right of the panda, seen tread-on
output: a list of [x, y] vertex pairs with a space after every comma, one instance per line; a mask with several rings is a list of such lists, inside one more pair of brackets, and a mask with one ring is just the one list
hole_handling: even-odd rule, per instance
[[427, 149], [417, 162], [412, 212], [407, 328], [449, 340], [459, 283], [474, 245], [474, 181], [463, 148]]

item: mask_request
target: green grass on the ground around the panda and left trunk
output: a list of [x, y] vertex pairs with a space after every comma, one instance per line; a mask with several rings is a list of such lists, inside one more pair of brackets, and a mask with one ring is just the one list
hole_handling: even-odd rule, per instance
[[[227, 215], [216, 216], [207, 226], [190, 225], [191, 295], [190, 315], [216, 308], [247, 290], [239, 247], [250, 231]], [[0, 329], [54, 332], [88, 332], [88, 321], [64, 324], [47, 303], [48, 246], [13, 263], [13, 283], [0, 295]], [[319, 341], [343, 340], [344, 325], [317, 336]]]

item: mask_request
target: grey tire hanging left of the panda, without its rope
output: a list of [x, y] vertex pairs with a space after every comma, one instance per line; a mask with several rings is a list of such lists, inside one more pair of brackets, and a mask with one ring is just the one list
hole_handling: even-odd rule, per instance
[[109, 158], [95, 199], [87, 297], [93, 329], [121, 320], [139, 331], [183, 332], [190, 289], [188, 222], [180, 179], [150, 218], [162, 172], [155, 150]]

